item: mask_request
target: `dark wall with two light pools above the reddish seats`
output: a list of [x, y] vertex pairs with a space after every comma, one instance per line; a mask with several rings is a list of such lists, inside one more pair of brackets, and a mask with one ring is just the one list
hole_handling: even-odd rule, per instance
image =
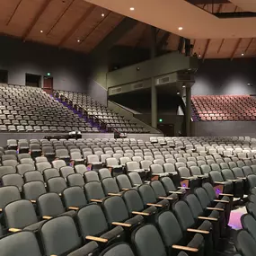
[[[193, 95], [255, 94], [254, 58], [207, 59], [199, 63]], [[252, 84], [248, 86], [249, 84]]]

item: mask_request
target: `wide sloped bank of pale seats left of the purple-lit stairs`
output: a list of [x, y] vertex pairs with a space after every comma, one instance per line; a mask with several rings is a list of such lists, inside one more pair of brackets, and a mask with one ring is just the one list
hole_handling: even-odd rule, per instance
[[0, 131], [99, 132], [40, 88], [0, 84]]

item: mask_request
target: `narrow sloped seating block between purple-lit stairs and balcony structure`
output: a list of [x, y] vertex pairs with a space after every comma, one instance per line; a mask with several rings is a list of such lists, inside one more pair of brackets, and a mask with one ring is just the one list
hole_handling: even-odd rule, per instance
[[73, 93], [66, 91], [56, 91], [55, 97], [60, 102], [67, 104], [72, 110], [76, 110], [86, 119], [98, 122], [108, 131], [114, 129], [120, 133], [147, 133], [145, 128], [137, 123], [133, 123], [113, 110], [110, 110], [100, 102], [94, 101], [85, 93]]

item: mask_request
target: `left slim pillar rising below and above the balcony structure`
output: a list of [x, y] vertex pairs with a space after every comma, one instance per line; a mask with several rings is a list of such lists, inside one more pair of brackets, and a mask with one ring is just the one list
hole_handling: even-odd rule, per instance
[[[156, 28], [151, 27], [151, 59], [156, 56]], [[151, 77], [151, 125], [157, 128], [157, 92], [154, 76]]]

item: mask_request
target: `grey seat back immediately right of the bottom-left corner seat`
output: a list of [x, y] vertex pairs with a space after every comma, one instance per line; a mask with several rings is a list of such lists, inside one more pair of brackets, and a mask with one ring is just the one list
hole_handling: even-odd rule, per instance
[[40, 227], [40, 237], [46, 255], [66, 255], [81, 245], [71, 216], [58, 216], [44, 223]]

